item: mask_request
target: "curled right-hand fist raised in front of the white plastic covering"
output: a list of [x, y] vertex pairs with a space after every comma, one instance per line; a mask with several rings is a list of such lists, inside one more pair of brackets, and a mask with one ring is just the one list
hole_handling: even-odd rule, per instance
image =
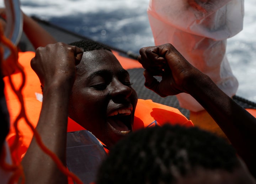
[[[188, 93], [193, 80], [204, 75], [171, 44], [140, 49], [138, 61], [145, 69], [145, 86], [161, 97]], [[161, 76], [161, 81], [157, 81], [154, 76]]]

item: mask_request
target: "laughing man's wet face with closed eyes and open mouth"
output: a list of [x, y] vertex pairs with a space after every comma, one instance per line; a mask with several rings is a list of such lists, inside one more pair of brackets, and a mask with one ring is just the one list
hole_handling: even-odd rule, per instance
[[108, 50], [84, 52], [70, 97], [69, 117], [111, 147], [132, 131], [137, 94]]

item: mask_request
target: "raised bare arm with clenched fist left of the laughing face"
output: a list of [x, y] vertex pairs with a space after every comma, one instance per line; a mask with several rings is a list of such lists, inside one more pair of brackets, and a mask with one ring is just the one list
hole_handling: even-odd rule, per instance
[[[82, 50], [64, 43], [38, 48], [31, 67], [43, 86], [42, 110], [37, 131], [43, 143], [65, 165], [68, 102], [76, 75], [75, 65], [82, 58]], [[52, 159], [42, 152], [33, 137], [22, 160], [26, 183], [67, 183]]]

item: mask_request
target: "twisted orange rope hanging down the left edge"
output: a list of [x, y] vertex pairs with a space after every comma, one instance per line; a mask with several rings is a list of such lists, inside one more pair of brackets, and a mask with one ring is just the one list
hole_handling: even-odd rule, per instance
[[[17, 146], [18, 146], [18, 139], [19, 139], [19, 134], [20, 134], [20, 132], [18, 130], [18, 126], [17, 126], [18, 125], [18, 121], [21, 118], [24, 118], [26, 123], [28, 124], [28, 126], [30, 126], [31, 130], [33, 131], [34, 137], [35, 137], [35, 139], [37, 141], [37, 144], [42, 149], [42, 151], [45, 152], [47, 155], [49, 155], [53, 159], [53, 161], [57, 164], [57, 167], [60, 169], [61, 172], [63, 172], [66, 176], [71, 177], [76, 183], [82, 184], [81, 180], [74, 173], [72, 173], [72, 172], [70, 172], [70, 171], [68, 171], [66, 169], [66, 167], [63, 165], [63, 163], [58, 158], [58, 156], [55, 155], [55, 153], [53, 153], [52, 151], [50, 151], [43, 144], [42, 139], [41, 139], [39, 133], [33, 127], [31, 122], [28, 120], [27, 115], [26, 115], [26, 111], [25, 111], [23, 96], [22, 96], [22, 88], [25, 85], [26, 76], [25, 76], [25, 73], [24, 73], [24, 71], [22, 69], [22, 66], [18, 63], [18, 53], [17, 53], [17, 49], [16, 49], [15, 45], [12, 44], [12, 42], [4, 36], [3, 31], [2, 31], [1, 28], [0, 28], [0, 31], [1, 31], [1, 34], [0, 34], [1, 43], [6, 45], [10, 49], [11, 55], [14, 57], [13, 60], [9, 61], [10, 63], [9, 62], [8, 63], [5, 62], [4, 65], [1, 63], [1, 66], [5, 67], [5, 69], [6, 69], [6, 67], [8, 67], [8, 71], [7, 71], [8, 73], [9, 72], [13, 72], [13, 70], [11, 70], [11, 68], [12, 69], [16, 69], [17, 68], [21, 72], [21, 75], [22, 75], [22, 83], [21, 83], [21, 86], [19, 87], [18, 90], [15, 89], [15, 86], [14, 86], [14, 84], [12, 82], [11, 75], [8, 76], [11, 88], [15, 92], [15, 94], [18, 97], [18, 100], [20, 101], [20, 104], [21, 104], [20, 113], [18, 114], [18, 116], [16, 117], [16, 119], [14, 121], [16, 137], [15, 137], [14, 144], [11, 146], [11, 152], [14, 151], [17, 148]], [[2, 50], [1, 50], [1, 56], [2, 55], [3, 54], [2, 54]], [[9, 74], [11, 74], [11, 73], [9, 73]], [[9, 181], [9, 184], [13, 184], [14, 182], [17, 182], [18, 179], [20, 179], [20, 177], [22, 179], [21, 183], [25, 183], [25, 175], [24, 175], [21, 163], [18, 164], [17, 166], [16, 165], [10, 165], [10, 164], [6, 163], [5, 162], [5, 154], [3, 154], [2, 157], [0, 158], [0, 164], [1, 164], [2, 168], [4, 168], [6, 171], [14, 172], [14, 174], [12, 175], [12, 177], [11, 177], [11, 179]]]

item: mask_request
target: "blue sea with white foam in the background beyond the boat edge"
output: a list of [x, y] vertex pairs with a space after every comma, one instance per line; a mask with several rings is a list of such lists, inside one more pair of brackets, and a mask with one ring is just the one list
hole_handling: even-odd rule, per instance
[[[154, 45], [149, 0], [20, 0], [27, 15], [113, 47], [138, 53]], [[244, 29], [228, 39], [227, 56], [238, 78], [238, 96], [256, 102], [256, 1], [245, 0]]]

